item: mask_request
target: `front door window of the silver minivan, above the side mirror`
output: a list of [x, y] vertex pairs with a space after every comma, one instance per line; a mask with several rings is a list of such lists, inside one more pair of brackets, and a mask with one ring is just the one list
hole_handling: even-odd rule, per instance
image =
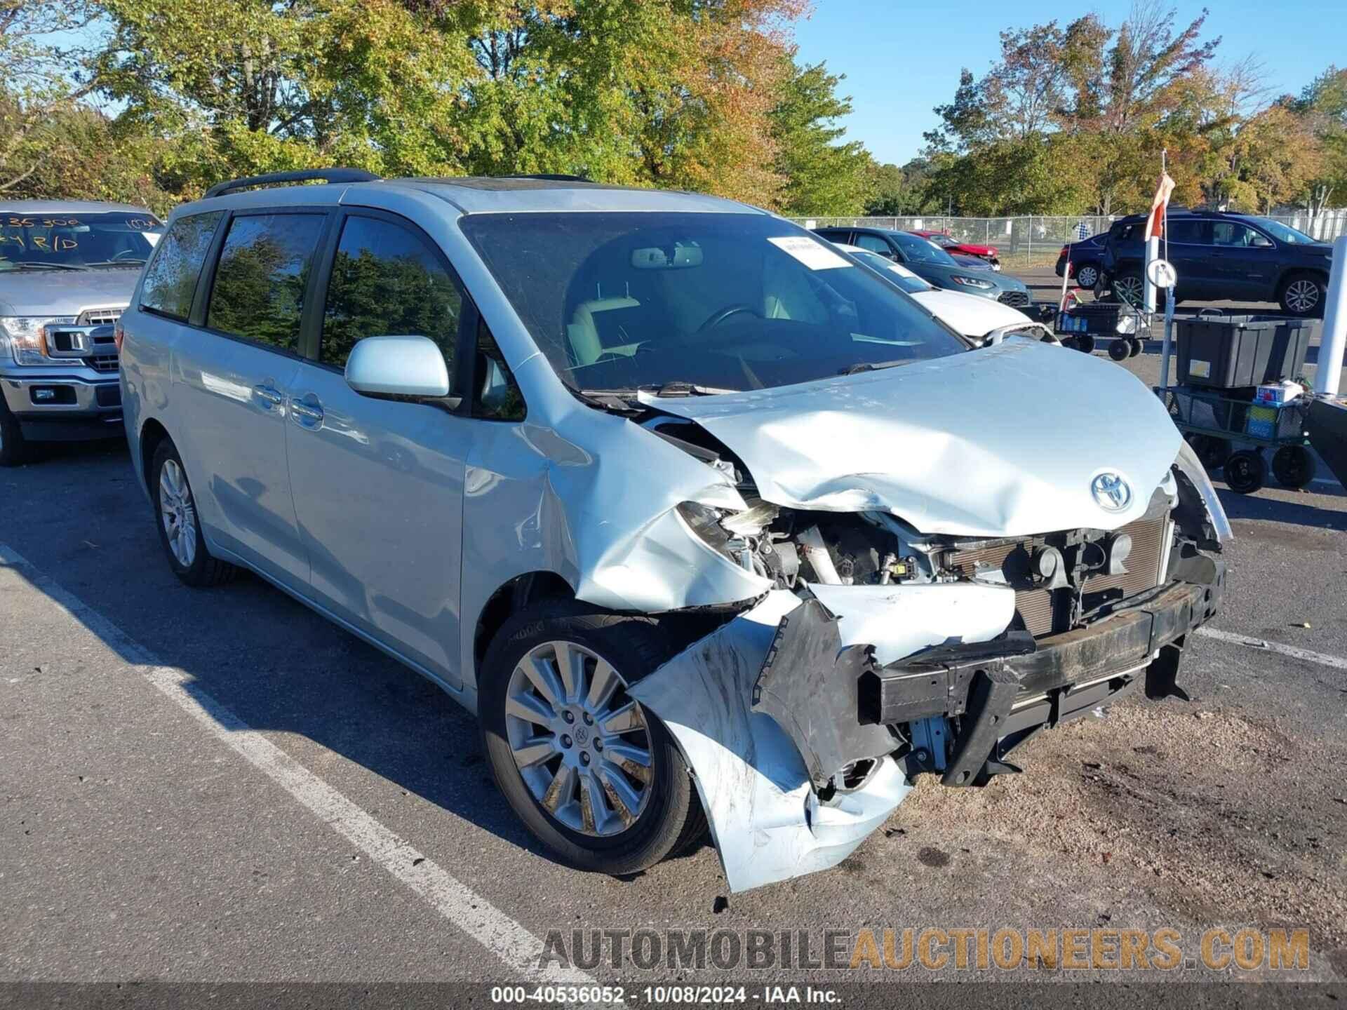
[[430, 337], [454, 374], [463, 298], [443, 259], [415, 232], [369, 217], [342, 226], [318, 360], [345, 368], [365, 337]]

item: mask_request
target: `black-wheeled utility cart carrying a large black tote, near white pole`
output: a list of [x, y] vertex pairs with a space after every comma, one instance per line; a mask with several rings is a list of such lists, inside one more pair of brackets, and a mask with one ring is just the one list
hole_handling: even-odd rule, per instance
[[1233, 492], [1253, 494], [1269, 469], [1284, 487], [1303, 489], [1315, 478], [1305, 432], [1311, 399], [1288, 381], [1304, 370], [1309, 326], [1220, 310], [1173, 321], [1179, 384], [1156, 393], [1203, 466], [1223, 469]]

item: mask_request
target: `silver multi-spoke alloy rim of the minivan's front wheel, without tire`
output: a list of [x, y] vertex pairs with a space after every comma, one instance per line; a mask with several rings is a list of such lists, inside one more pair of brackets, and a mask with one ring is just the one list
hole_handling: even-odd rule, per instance
[[566, 828], [617, 835], [644, 812], [649, 729], [626, 680], [590, 649], [551, 641], [525, 653], [506, 688], [505, 730], [524, 784]]

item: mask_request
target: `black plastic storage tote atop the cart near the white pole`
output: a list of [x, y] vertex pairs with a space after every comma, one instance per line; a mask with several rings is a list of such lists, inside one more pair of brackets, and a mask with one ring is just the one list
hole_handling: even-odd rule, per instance
[[1175, 319], [1177, 380], [1184, 385], [1238, 389], [1296, 378], [1305, 369], [1313, 321], [1273, 315], [1208, 315]]

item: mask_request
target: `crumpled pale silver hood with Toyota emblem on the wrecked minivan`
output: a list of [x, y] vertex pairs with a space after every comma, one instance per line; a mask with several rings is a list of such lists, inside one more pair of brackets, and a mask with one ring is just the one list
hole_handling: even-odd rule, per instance
[[[721, 439], [765, 501], [956, 536], [1117, 529], [1145, 513], [1181, 442], [1121, 366], [1014, 338], [777, 389], [643, 399]], [[1103, 471], [1130, 485], [1126, 508], [1095, 501]]]

